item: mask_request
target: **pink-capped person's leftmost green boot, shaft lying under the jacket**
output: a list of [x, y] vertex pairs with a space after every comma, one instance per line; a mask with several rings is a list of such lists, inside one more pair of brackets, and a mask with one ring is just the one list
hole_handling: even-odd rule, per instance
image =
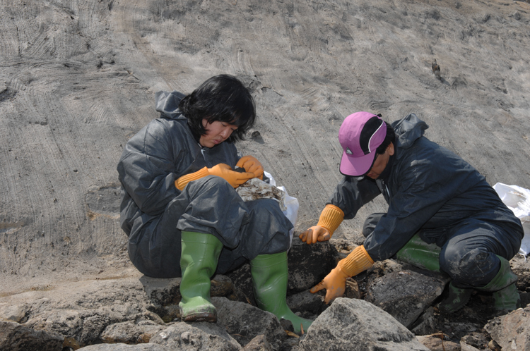
[[411, 240], [401, 247], [396, 254], [396, 259], [407, 262], [420, 269], [429, 271], [440, 271], [440, 251], [442, 249], [435, 244], [428, 244], [420, 239], [420, 235], [414, 235]]

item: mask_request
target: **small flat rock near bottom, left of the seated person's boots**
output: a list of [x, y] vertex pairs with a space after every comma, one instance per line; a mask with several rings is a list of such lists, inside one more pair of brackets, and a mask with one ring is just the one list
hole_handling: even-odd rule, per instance
[[167, 326], [149, 320], [126, 321], [107, 326], [100, 338], [105, 343], [148, 343], [153, 335], [165, 328]]

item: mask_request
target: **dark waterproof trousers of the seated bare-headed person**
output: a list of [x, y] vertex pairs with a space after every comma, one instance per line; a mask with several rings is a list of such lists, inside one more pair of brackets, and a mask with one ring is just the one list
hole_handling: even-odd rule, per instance
[[258, 254], [289, 249], [293, 228], [278, 202], [243, 202], [223, 178], [207, 176], [188, 183], [163, 214], [129, 237], [129, 257], [146, 276], [181, 276], [181, 232], [215, 235], [223, 243], [216, 273], [236, 269]]

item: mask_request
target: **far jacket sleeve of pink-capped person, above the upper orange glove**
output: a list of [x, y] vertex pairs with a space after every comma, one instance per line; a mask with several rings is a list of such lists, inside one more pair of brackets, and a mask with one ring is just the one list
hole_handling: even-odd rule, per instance
[[355, 217], [357, 211], [381, 194], [373, 180], [344, 176], [326, 204], [333, 204], [344, 212], [344, 219]]

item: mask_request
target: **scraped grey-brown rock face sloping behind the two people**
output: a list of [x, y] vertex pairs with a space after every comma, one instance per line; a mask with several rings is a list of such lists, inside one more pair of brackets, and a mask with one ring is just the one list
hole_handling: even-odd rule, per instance
[[[355, 111], [416, 113], [497, 182], [530, 188], [530, 5], [523, 1], [0, 1], [0, 296], [139, 278], [117, 160], [158, 90], [244, 80], [239, 144], [298, 197], [297, 231], [341, 178]], [[432, 61], [440, 65], [440, 79]], [[334, 238], [360, 240], [376, 199]], [[24, 295], [28, 294], [28, 295]]]

